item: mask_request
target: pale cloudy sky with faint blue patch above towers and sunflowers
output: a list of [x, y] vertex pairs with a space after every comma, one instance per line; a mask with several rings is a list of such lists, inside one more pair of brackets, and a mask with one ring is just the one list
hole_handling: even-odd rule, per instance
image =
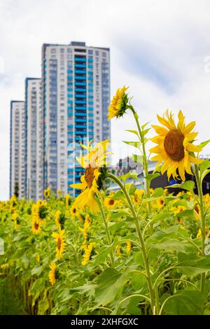
[[[111, 49], [111, 95], [130, 86], [142, 125], [181, 109], [199, 141], [210, 138], [209, 0], [0, 0], [0, 200], [9, 193], [10, 100], [24, 99], [26, 77], [41, 76], [43, 43], [71, 41]], [[130, 114], [112, 120], [113, 162], [134, 153], [122, 142], [134, 129]]]

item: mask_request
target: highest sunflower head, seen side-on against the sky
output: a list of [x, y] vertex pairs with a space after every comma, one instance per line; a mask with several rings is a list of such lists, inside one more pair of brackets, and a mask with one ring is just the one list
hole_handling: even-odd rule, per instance
[[118, 88], [116, 95], [113, 96], [111, 100], [111, 104], [108, 109], [108, 118], [109, 120], [112, 118], [120, 118], [123, 116], [125, 111], [127, 110], [128, 104], [128, 96], [125, 93], [128, 87]]

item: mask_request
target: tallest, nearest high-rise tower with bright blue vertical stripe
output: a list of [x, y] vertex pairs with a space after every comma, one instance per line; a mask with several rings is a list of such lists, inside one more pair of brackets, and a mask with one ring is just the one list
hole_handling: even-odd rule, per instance
[[111, 135], [109, 48], [44, 44], [42, 95], [44, 188], [77, 195], [69, 185], [83, 172], [75, 165], [79, 144]]

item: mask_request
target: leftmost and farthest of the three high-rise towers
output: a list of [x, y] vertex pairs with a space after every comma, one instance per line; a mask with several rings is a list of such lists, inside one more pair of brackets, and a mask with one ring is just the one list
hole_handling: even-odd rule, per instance
[[10, 197], [25, 197], [25, 102], [10, 102]]

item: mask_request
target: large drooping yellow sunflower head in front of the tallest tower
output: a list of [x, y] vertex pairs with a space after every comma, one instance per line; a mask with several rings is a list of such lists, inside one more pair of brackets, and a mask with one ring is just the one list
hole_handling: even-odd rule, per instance
[[88, 153], [76, 160], [85, 169], [85, 174], [80, 177], [81, 183], [72, 184], [71, 188], [82, 190], [73, 202], [73, 207], [83, 209], [87, 206], [90, 207], [90, 211], [98, 212], [99, 206], [94, 195], [99, 193], [106, 176], [106, 155], [109, 154], [106, 149], [109, 146], [109, 140], [102, 141], [94, 147], [90, 145], [91, 142], [87, 146], [81, 144]]

